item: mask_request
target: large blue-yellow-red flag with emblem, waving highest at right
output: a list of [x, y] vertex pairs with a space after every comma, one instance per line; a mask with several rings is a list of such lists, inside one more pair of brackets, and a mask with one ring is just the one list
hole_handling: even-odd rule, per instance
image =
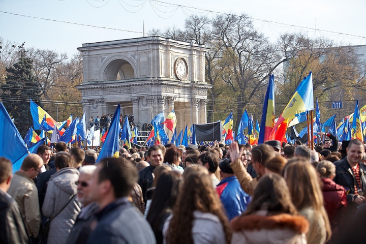
[[295, 117], [295, 114], [314, 110], [313, 76], [310, 71], [297, 86], [295, 94], [287, 104], [284, 111], [273, 127], [269, 140], [283, 141], [288, 123]]

